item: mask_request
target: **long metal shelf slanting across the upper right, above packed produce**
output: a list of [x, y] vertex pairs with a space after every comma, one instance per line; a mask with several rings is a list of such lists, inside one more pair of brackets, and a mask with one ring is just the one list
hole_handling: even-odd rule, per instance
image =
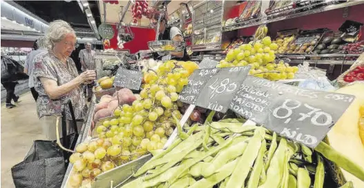
[[[335, 9], [339, 9], [339, 8], [345, 8], [345, 7], [349, 7], [349, 6], [356, 6], [356, 5], [360, 5], [363, 3], [364, 3], [364, 1], [349, 1], [349, 2], [345, 2], [345, 3], [339, 3], [339, 4], [324, 6], [324, 7], [320, 7], [320, 8], [316, 8], [316, 9], [312, 9], [312, 10], [307, 10], [305, 12], [298, 12], [295, 14], [289, 14], [289, 15], [285, 15], [282, 17], [276, 17], [276, 18], [272, 18], [272, 19], [269, 19], [270, 16], [269, 17], [260, 17], [257, 19], [250, 19], [248, 21], [236, 23], [235, 25], [229, 25], [227, 27], [224, 27], [223, 31], [226, 32], [226, 31], [231, 31], [231, 30], [238, 30], [241, 28], [249, 28], [251, 26], [262, 25], [262, 24], [272, 23], [272, 22], [276, 22], [276, 21], [282, 21], [285, 19], [293, 19], [296, 17], [303, 17], [303, 16], [307, 16], [309, 14], [316, 14], [319, 12], [325, 12], [325, 11], [335, 10]], [[296, 9], [296, 10], [298, 10], [298, 9]]]

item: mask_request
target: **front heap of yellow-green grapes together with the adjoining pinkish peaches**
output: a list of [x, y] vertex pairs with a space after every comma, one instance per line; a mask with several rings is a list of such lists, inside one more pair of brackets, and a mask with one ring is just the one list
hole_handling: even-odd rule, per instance
[[[176, 126], [175, 119], [182, 118], [178, 92], [197, 68], [190, 61], [166, 61], [155, 72], [144, 74], [145, 83], [136, 100], [126, 88], [101, 98], [94, 116], [97, 125], [101, 124], [95, 129], [98, 138], [77, 145], [76, 153], [70, 156], [73, 174], [68, 186], [90, 187], [102, 172], [162, 149]], [[108, 115], [113, 116], [104, 118], [110, 112]]]

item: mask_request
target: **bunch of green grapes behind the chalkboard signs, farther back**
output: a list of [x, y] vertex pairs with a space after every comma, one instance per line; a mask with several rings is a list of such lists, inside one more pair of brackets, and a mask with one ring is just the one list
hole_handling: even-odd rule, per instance
[[280, 79], [294, 79], [298, 67], [289, 66], [288, 63], [275, 63], [276, 43], [271, 43], [271, 38], [265, 36], [261, 41], [242, 44], [239, 48], [229, 50], [224, 60], [216, 67], [236, 67], [251, 65], [249, 75], [277, 81]]

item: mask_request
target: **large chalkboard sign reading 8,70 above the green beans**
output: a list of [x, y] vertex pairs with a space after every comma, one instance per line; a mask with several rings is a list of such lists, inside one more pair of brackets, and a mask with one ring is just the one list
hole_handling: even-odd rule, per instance
[[316, 147], [354, 100], [348, 94], [307, 90], [248, 76], [231, 109], [263, 127]]

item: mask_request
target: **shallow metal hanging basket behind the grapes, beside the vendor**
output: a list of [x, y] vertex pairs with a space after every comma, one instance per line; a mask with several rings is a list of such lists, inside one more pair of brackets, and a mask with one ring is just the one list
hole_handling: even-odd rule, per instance
[[150, 41], [149, 49], [153, 52], [181, 52], [186, 47], [181, 41]]

